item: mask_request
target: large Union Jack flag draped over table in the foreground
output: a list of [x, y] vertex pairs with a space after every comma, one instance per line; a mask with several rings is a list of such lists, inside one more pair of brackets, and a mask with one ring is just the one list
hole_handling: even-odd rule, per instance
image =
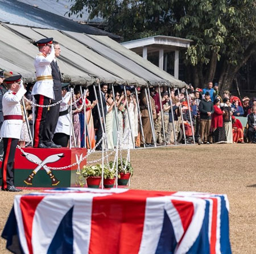
[[231, 254], [226, 195], [67, 188], [17, 195], [16, 254]]

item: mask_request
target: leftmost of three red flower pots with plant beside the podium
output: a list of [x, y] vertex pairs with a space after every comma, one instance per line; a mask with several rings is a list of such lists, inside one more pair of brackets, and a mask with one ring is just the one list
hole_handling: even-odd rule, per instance
[[81, 170], [82, 176], [86, 178], [89, 188], [99, 188], [101, 184], [101, 164], [83, 166]]

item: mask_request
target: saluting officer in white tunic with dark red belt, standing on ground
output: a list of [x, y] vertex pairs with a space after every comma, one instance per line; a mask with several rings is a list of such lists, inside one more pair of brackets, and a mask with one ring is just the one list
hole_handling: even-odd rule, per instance
[[[5, 79], [9, 91], [3, 95], [3, 125], [0, 136], [3, 138], [3, 161], [2, 161], [2, 190], [21, 191], [14, 186], [14, 157], [16, 146], [20, 139], [23, 116], [20, 100], [26, 93], [21, 75], [11, 76]], [[20, 84], [19, 84], [20, 82]]]

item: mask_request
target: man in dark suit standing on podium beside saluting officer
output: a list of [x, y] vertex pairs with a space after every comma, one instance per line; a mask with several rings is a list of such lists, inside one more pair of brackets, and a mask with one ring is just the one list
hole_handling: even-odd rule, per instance
[[[61, 74], [59, 66], [57, 65], [56, 57], [60, 56], [60, 44], [57, 41], [53, 41], [53, 47], [55, 49], [55, 59], [53, 59], [51, 63], [52, 68], [52, 78], [53, 78], [53, 92], [55, 95], [55, 99], [51, 100], [51, 104], [61, 101]], [[59, 112], [60, 112], [60, 104], [57, 104], [53, 107], [49, 107], [46, 124], [44, 125], [43, 131], [43, 140], [44, 144], [47, 147], [51, 148], [60, 148], [61, 145], [56, 145], [53, 143], [53, 135], [55, 132], [55, 128], [57, 126], [57, 122], [59, 119]]]

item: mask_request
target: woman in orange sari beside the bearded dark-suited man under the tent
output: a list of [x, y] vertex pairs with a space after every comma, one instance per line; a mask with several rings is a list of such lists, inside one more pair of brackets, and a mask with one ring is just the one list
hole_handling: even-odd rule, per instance
[[[91, 103], [89, 101], [89, 99], [87, 99], [86, 97], [89, 96], [89, 90], [87, 89], [86, 91], [86, 96], [85, 96], [85, 106], [86, 106], [86, 122], [87, 122], [87, 126], [88, 126], [88, 133], [86, 135], [86, 145], [87, 148], [91, 148], [93, 149], [95, 147], [95, 132], [94, 132], [94, 124], [93, 124], [93, 116], [92, 116], [92, 109], [94, 108], [94, 106], [98, 103], [98, 101], [93, 101], [93, 103]], [[90, 139], [90, 145], [89, 145], [89, 140]]]

